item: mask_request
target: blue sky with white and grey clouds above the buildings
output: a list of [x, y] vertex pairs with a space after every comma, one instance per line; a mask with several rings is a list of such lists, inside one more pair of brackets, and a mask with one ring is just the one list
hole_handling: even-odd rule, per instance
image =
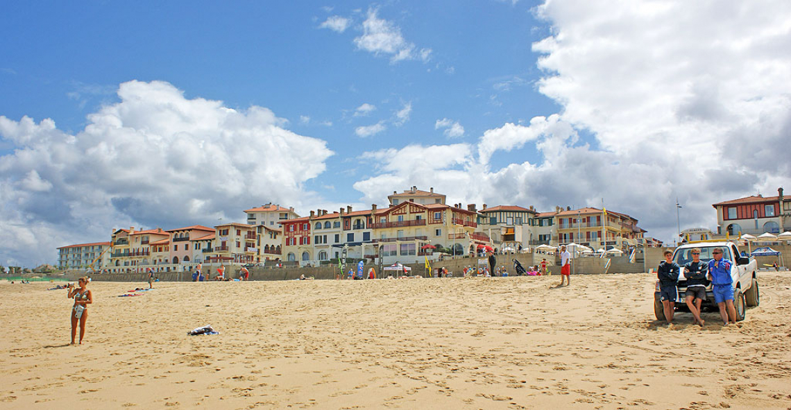
[[791, 188], [791, 2], [277, 3], [6, 7], [0, 264], [412, 185], [671, 241]]

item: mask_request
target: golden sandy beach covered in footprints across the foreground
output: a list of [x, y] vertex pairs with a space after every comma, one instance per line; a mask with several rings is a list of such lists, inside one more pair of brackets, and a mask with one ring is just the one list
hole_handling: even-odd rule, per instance
[[2, 283], [0, 408], [791, 408], [791, 275], [738, 328], [655, 321], [654, 280], [93, 282], [82, 346]]

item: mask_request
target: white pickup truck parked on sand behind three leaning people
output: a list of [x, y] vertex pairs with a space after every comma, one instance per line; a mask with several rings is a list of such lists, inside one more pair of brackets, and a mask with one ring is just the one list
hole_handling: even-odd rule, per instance
[[[715, 248], [723, 250], [723, 259], [730, 260], [731, 266], [731, 279], [733, 280], [733, 306], [736, 307], [736, 321], [744, 321], [744, 313], [746, 306], [758, 306], [761, 302], [758, 290], [758, 264], [755, 258], [748, 256], [741, 256], [738, 247], [733, 242], [728, 241], [701, 241], [694, 242], [687, 245], [681, 245], [676, 248], [673, 253], [673, 260], [676, 264], [681, 266], [679, 274], [679, 299], [676, 300], [676, 310], [687, 309], [685, 302], [685, 293], [687, 291], [687, 278], [683, 275], [683, 266], [692, 260], [692, 249], [700, 248], [700, 260], [708, 262], [713, 259], [711, 252]], [[717, 311], [717, 304], [714, 303], [714, 295], [711, 290], [711, 285], [706, 287], [706, 301], [703, 302], [701, 309], [708, 308], [709, 310]], [[659, 296], [659, 281], [657, 280], [657, 288], [653, 294], [653, 312], [657, 319], [664, 321], [664, 310], [662, 309], [662, 302]]]

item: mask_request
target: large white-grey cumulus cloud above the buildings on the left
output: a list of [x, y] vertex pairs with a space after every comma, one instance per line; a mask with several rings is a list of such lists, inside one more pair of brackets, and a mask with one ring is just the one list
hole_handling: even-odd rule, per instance
[[117, 94], [74, 134], [0, 116], [15, 147], [0, 157], [0, 264], [54, 263], [58, 246], [107, 241], [112, 228], [240, 220], [264, 199], [299, 206], [333, 154], [267, 108], [187, 99], [167, 82], [125, 82]]

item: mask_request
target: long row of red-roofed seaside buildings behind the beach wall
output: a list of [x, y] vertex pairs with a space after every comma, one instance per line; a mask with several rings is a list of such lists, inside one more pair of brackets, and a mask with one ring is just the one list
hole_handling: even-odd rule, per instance
[[186, 226], [162, 230], [113, 229], [111, 241], [59, 248], [60, 268], [91, 268], [111, 272], [187, 271], [195, 264], [320, 265], [339, 258], [367, 259], [383, 264], [412, 263], [439, 256], [468, 255], [481, 249], [519, 251], [537, 245], [576, 242], [592, 248], [625, 249], [655, 246], [644, 237], [638, 220], [627, 214], [593, 207], [533, 207], [461, 203], [411, 187], [388, 196], [387, 207], [316, 210], [301, 217], [293, 207], [268, 203], [245, 210], [244, 222], [214, 227]]

